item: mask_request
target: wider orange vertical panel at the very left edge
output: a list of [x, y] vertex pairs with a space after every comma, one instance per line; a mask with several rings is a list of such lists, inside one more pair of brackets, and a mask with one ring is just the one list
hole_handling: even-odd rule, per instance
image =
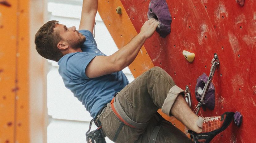
[[15, 74], [17, 2], [0, 5], [0, 142], [13, 143], [15, 129]]

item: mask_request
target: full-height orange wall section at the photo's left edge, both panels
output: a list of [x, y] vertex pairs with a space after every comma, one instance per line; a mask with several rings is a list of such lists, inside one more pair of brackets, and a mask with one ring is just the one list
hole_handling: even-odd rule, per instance
[[28, 4], [0, 0], [0, 143], [29, 142]]

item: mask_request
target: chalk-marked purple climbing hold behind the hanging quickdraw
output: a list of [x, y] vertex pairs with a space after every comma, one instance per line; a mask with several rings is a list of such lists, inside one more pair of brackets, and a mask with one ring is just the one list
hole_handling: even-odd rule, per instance
[[[196, 87], [195, 87], [195, 96], [197, 101], [201, 100], [201, 97], [203, 95], [203, 88], [206, 85], [208, 80], [208, 77], [205, 73], [203, 73], [201, 76], [198, 77]], [[205, 94], [205, 98], [203, 101], [203, 109], [209, 108], [210, 110], [213, 110], [215, 106], [215, 88], [213, 84], [211, 83], [207, 93]]]

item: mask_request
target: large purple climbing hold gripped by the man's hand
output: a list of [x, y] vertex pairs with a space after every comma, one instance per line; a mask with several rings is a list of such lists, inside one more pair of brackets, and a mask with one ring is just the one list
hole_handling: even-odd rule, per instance
[[165, 38], [171, 33], [172, 18], [165, 0], [151, 0], [147, 12], [148, 19], [155, 18], [160, 24], [156, 32]]

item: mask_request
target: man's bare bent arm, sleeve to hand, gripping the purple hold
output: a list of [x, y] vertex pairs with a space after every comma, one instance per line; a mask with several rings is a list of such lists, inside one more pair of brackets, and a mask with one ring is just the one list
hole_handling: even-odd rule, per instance
[[126, 66], [129, 66], [136, 58], [146, 39], [150, 38], [154, 34], [158, 25], [159, 22], [156, 19], [150, 19], [144, 23], [141, 27], [140, 33], [126, 46], [122, 47], [110, 56], [96, 56], [88, 64], [85, 70], [87, 77], [100, 77], [121, 71]]

